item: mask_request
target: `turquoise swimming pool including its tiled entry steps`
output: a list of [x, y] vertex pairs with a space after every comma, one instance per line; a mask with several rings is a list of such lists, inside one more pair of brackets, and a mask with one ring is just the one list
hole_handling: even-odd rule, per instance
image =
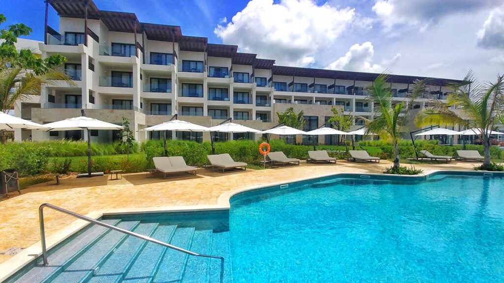
[[[230, 209], [105, 216], [224, 256], [225, 282], [504, 281], [504, 178], [338, 175], [234, 195]], [[218, 282], [219, 262], [89, 226], [9, 282]]]

